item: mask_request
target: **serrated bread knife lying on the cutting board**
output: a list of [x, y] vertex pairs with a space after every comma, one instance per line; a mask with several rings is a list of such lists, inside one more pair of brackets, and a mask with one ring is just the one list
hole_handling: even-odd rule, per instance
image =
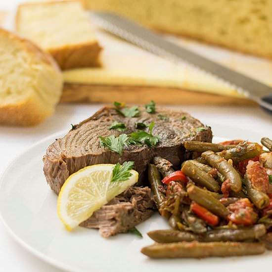
[[90, 12], [90, 16], [95, 24], [106, 31], [156, 55], [174, 62], [185, 63], [200, 73], [208, 74], [272, 112], [271, 87], [232, 71], [180, 45], [175, 45], [161, 35], [149, 31], [122, 16], [100, 11]]

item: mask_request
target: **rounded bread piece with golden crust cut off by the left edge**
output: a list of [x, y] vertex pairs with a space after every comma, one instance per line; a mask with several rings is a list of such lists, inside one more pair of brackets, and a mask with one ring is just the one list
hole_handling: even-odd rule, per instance
[[61, 71], [48, 53], [0, 29], [0, 124], [42, 122], [54, 112], [62, 83]]

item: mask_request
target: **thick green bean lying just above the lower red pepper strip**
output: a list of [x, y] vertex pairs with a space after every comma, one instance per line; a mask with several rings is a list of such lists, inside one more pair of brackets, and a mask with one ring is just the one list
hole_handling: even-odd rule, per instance
[[218, 215], [219, 217], [224, 219], [227, 218], [227, 208], [222, 203], [220, 203], [219, 200], [211, 196], [205, 190], [198, 188], [195, 185], [189, 184], [187, 186], [187, 193], [191, 200], [208, 209], [215, 215]]

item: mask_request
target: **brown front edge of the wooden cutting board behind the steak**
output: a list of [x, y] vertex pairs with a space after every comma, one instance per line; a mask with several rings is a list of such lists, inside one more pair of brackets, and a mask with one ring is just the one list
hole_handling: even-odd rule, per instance
[[[113, 100], [126, 103], [147, 103], [172, 105], [257, 105], [247, 98], [236, 98], [179, 88], [116, 86], [91, 84], [64, 84], [60, 102], [112, 103]], [[174, 97], [174, 98], [173, 98]]]

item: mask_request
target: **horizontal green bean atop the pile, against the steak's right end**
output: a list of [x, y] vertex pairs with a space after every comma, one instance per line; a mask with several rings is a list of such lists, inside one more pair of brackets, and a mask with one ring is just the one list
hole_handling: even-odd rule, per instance
[[185, 141], [184, 142], [185, 149], [190, 151], [197, 151], [200, 153], [208, 151], [208, 150], [219, 152], [219, 151], [233, 148], [235, 146], [236, 146], [235, 144], [223, 145], [218, 143], [202, 142], [202, 141]]

